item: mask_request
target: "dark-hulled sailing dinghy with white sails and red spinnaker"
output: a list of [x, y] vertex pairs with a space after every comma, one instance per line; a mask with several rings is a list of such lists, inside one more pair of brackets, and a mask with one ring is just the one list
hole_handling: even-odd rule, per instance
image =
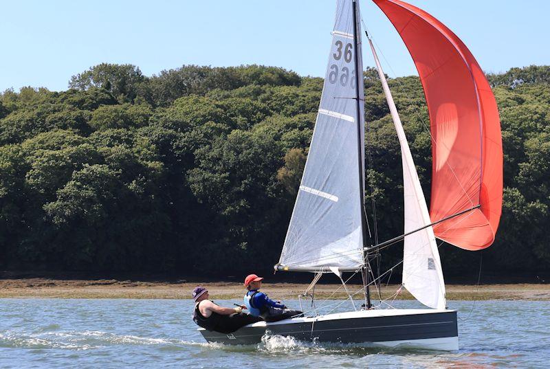
[[[364, 209], [364, 81], [357, 0], [338, 0], [320, 107], [303, 178], [276, 271], [361, 273], [361, 309], [258, 322], [209, 342], [256, 344], [266, 333], [315, 342], [458, 350], [456, 311], [447, 309], [436, 239], [467, 250], [494, 241], [503, 194], [503, 152], [496, 101], [462, 41], [423, 10], [399, 0], [373, 0], [393, 23], [415, 62], [428, 104], [432, 137], [430, 211], [391, 91], [367, 34], [401, 147], [404, 234], [369, 243]], [[426, 309], [373, 306], [371, 261], [404, 244], [402, 286]], [[346, 291], [348, 291], [346, 289]], [[307, 294], [307, 293], [305, 293]], [[349, 294], [353, 303], [353, 295]]]

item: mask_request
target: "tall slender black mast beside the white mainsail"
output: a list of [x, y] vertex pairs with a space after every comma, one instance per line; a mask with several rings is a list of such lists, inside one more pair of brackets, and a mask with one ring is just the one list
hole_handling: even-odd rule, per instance
[[[358, 27], [357, 27], [357, 1], [353, 0], [353, 41], [355, 41], [355, 102], [357, 104], [357, 119], [355, 120], [357, 122], [357, 151], [358, 151], [358, 170], [359, 170], [359, 188], [360, 188], [360, 204], [361, 204], [361, 233], [362, 233], [362, 239], [363, 239], [363, 247], [365, 245], [366, 240], [366, 216], [365, 216], [365, 208], [364, 208], [364, 168], [363, 168], [363, 141], [361, 139], [362, 132], [361, 132], [361, 101], [360, 101], [360, 91], [359, 91], [359, 85], [360, 85], [360, 78], [363, 78], [363, 71], [359, 70], [359, 34], [358, 34]], [[364, 272], [364, 282], [365, 282], [365, 295], [366, 295], [366, 309], [371, 309], [371, 287], [369, 286], [371, 282], [371, 264], [369, 262], [369, 254], [364, 254], [363, 252], [363, 258], [366, 262], [363, 272]]]

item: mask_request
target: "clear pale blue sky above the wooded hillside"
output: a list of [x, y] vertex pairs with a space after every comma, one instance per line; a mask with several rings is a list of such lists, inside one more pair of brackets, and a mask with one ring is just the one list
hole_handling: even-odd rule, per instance
[[[550, 64], [548, 0], [409, 0], [447, 25], [481, 67]], [[1, 1], [0, 91], [67, 89], [99, 63], [146, 76], [181, 65], [273, 65], [324, 76], [334, 0]], [[393, 25], [371, 0], [364, 23], [391, 77], [417, 74]], [[373, 66], [364, 48], [364, 65]]]

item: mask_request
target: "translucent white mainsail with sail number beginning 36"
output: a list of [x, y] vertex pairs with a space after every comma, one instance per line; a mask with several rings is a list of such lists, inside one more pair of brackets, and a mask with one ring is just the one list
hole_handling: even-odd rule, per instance
[[[356, 270], [364, 264], [364, 178], [360, 179], [359, 167], [364, 168], [364, 87], [363, 78], [356, 77], [362, 77], [362, 56], [360, 37], [355, 41], [353, 36], [353, 1], [337, 3], [314, 135], [278, 263], [288, 270]], [[360, 34], [359, 21], [356, 27], [355, 34]]]

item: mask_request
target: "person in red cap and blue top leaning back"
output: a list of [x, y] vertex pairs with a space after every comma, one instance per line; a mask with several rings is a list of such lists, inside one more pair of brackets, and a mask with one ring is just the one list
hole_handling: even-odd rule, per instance
[[266, 322], [278, 322], [303, 314], [298, 310], [287, 309], [285, 304], [273, 301], [265, 293], [260, 292], [262, 280], [263, 278], [256, 274], [249, 274], [245, 278], [245, 287], [248, 291], [245, 294], [244, 302], [250, 315], [263, 317]]

